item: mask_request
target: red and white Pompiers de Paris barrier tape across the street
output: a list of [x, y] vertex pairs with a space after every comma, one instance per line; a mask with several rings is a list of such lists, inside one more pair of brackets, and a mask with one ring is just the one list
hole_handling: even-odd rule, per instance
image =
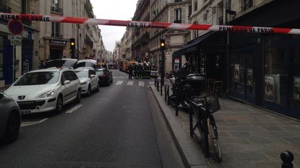
[[25, 19], [30, 21], [51, 21], [69, 24], [97, 24], [107, 26], [130, 26], [137, 28], [165, 28], [177, 30], [212, 30], [219, 32], [259, 32], [259, 33], [281, 33], [281, 34], [300, 34], [297, 28], [266, 28], [255, 26], [224, 26], [224, 25], [205, 25], [205, 24], [170, 24], [163, 22], [147, 21], [120, 21], [108, 19], [92, 19], [81, 17], [54, 17], [49, 15], [31, 14], [12, 14], [0, 12], [0, 19]]

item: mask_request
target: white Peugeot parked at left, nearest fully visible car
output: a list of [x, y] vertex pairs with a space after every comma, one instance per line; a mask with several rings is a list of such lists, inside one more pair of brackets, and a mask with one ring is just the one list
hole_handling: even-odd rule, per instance
[[64, 104], [81, 101], [81, 83], [73, 68], [47, 68], [24, 74], [5, 93], [22, 114], [61, 113]]

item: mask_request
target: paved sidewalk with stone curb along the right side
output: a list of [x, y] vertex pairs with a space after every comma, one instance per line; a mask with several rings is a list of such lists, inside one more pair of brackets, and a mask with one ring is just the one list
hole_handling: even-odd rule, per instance
[[[212, 158], [203, 158], [199, 144], [190, 138], [188, 112], [180, 108], [176, 117], [175, 109], [167, 106], [165, 95], [161, 96], [154, 85], [151, 89], [187, 167], [279, 168], [282, 162], [280, 154], [285, 150], [292, 151], [294, 167], [300, 167], [300, 122], [235, 100], [219, 98], [221, 110], [214, 113], [214, 117], [223, 161], [218, 163]], [[178, 131], [176, 124], [184, 131]]]

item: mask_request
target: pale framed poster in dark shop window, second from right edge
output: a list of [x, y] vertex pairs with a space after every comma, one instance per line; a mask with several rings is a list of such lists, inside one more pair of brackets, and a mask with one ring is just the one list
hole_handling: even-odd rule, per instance
[[274, 76], [265, 75], [265, 100], [275, 101]]

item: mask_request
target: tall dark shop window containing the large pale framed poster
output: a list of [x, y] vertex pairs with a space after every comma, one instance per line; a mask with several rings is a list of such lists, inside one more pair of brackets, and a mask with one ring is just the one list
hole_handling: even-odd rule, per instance
[[283, 45], [265, 48], [264, 95], [266, 101], [288, 105], [288, 55]]

